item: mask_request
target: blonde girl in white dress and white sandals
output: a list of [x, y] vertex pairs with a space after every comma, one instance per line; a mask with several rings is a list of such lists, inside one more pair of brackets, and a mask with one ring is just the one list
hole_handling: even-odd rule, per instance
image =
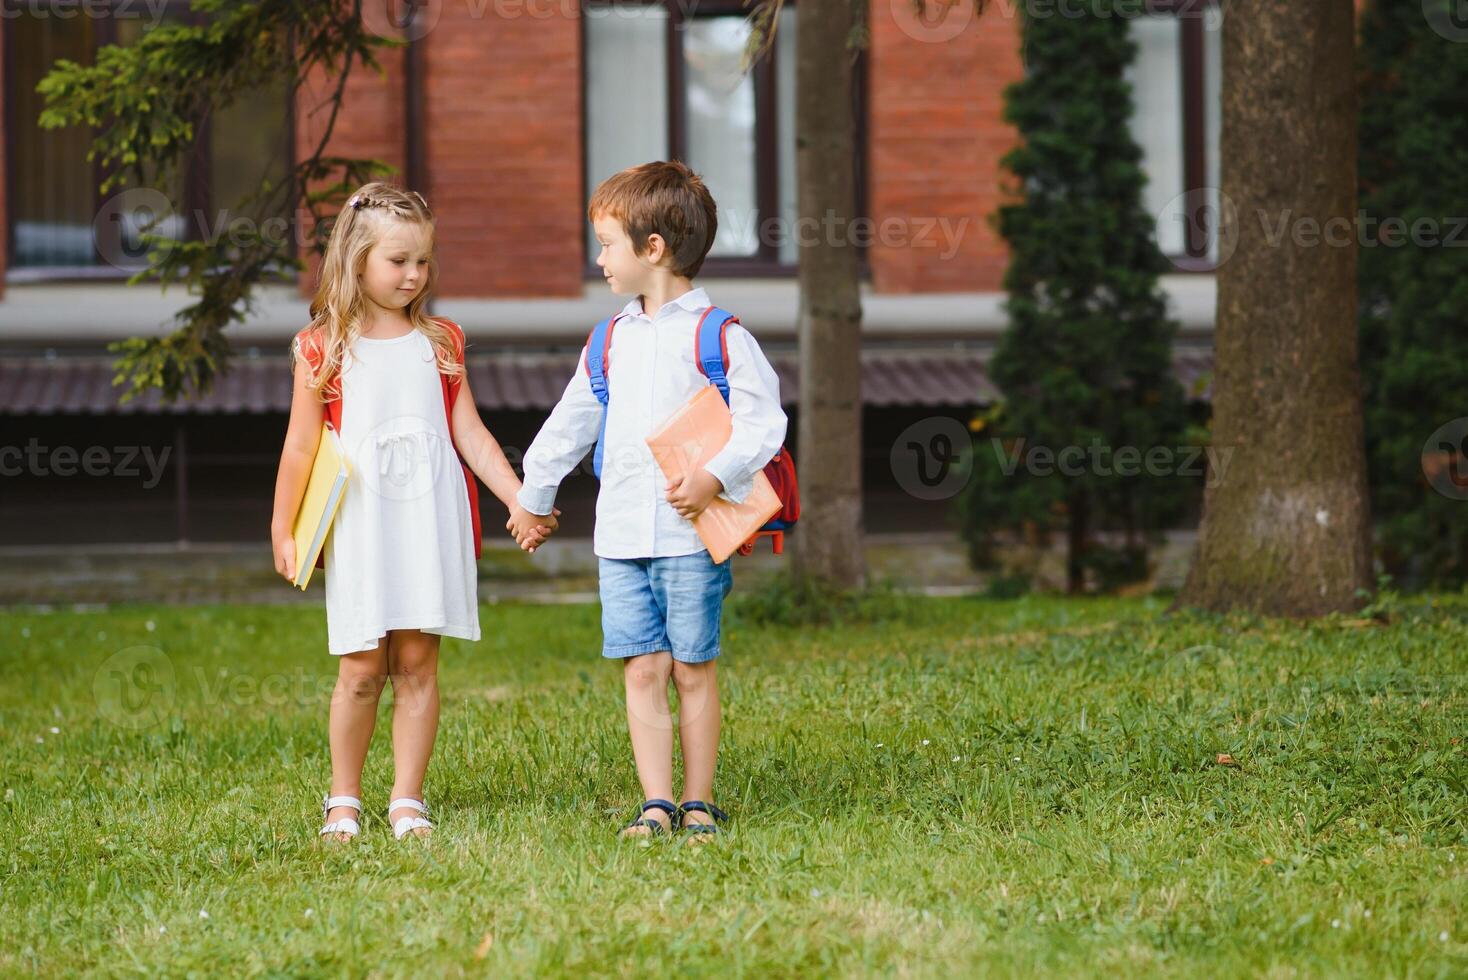
[[[360, 832], [363, 763], [389, 678], [388, 820], [399, 839], [432, 833], [423, 776], [439, 723], [439, 638], [479, 640], [470, 471], [506, 509], [520, 490], [474, 408], [464, 332], [424, 312], [436, 277], [433, 244], [435, 219], [421, 195], [363, 186], [332, 227], [311, 323], [291, 346], [291, 421], [270, 522], [275, 566], [288, 581], [297, 572], [291, 525], [323, 421], [336, 427], [351, 468], [320, 562], [327, 650], [339, 657], [321, 827], [332, 841]], [[523, 535], [521, 547], [533, 550], [553, 527]]]

